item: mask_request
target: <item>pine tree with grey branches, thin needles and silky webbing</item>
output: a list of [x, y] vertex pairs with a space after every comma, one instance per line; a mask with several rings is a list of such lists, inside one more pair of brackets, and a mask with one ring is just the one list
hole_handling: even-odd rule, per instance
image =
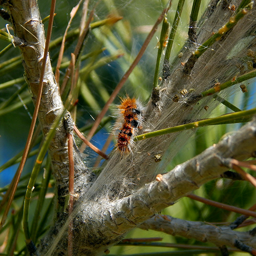
[[[179, 1], [173, 23], [168, 16], [170, 10], [173, 10], [171, 3], [165, 8], [160, 5], [161, 13], [155, 25], [151, 27], [151, 32], [148, 33], [137, 57], [131, 63], [132, 57], [124, 54], [123, 58], [125, 61], [130, 59], [131, 66], [128, 68], [125, 62], [121, 62], [123, 63], [121, 69], [125, 73], [123, 72], [120, 82], [115, 88], [111, 87], [109, 92], [108, 87], [102, 86], [102, 83], [96, 79], [98, 78], [96, 69], [122, 56], [118, 51], [113, 53], [113, 48], [119, 44], [116, 41], [116, 32], [129, 31], [127, 21], [121, 20], [118, 8], [113, 9], [111, 15], [104, 19], [97, 15], [97, 8], [101, 10], [106, 7], [114, 8], [111, 1], [91, 3], [92, 6], [88, 6], [88, 1], [84, 1], [83, 8], [80, 7], [82, 21], [79, 28], [69, 30], [61, 38], [52, 38], [51, 42], [54, 1], [49, 17], [47, 39], [36, 1], [1, 1], [3, 7], [1, 15], [11, 24], [14, 35], [8, 30], [1, 31], [1, 38], [9, 41], [10, 46], [7, 46], [0, 55], [5, 54], [13, 46], [20, 50], [20, 55], [12, 59], [12, 66], [4, 62], [2, 74], [8, 69], [11, 70], [15, 63], [19, 65], [22, 62], [25, 75], [2, 83], [0, 88], [6, 90], [15, 83], [26, 82], [30, 96], [27, 91], [23, 91], [25, 86], [20, 87], [9, 99], [3, 100], [0, 111], [6, 114], [15, 106], [17, 108], [23, 105], [24, 100], [22, 104], [17, 100], [21, 94], [27, 97], [25, 104], [32, 98], [35, 105], [24, 153], [16, 155], [15, 159], [11, 159], [1, 167], [3, 170], [19, 162], [13, 182], [8, 187], [2, 188], [1, 232], [6, 234], [5, 230], [9, 230], [9, 233], [1, 247], [1, 252], [7, 255], [13, 255], [14, 252], [31, 255], [108, 254], [111, 247], [120, 241], [119, 245], [134, 244], [132, 240], [122, 239], [129, 231], [140, 228], [210, 242], [217, 246], [207, 249], [191, 246], [187, 251], [189, 255], [218, 250], [222, 255], [228, 255], [229, 248], [256, 255], [253, 249], [256, 242], [255, 228], [249, 226], [253, 220], [246, 221], [249, 216], [256, 217], [253, 211], [255, 207], [252, 206], [249, 210], [241, 208], [246, 208], [252, 203], [252, 195], [255, 193], [253, 189], [256, 185], [255, 179], [241, 168], [255, 170], [254, 165], [251, 165], [253, 161], [241, 161], [255, 157], [256, 120], [252, 119], [252, 116], [256, 110], [248, 108], [247, 105], [240, 110], [226, 101], [233, 88], [245, 92], [247, 90], [245, 84], [247, 83], [249, 87], [251, 83], [249, 79], [256, 75], [254, 70], [256, 10], [249, 1], [211, 1], [199, 19], [200, 2], [194, 0], [186, 31], [188, 36], [177, 56], [174, 56], [173, 48], [179, 36], [177, 31], [181, 32], [179, 22], [184, 1]], [[120, 3], [119, 5], [122, 6]], [[76, 19], [80, 9], [76, 6], [72, 10], [71, 16], [74, 15], [72, 18]], [[129, 11], [132, 10], [136, 8], [131, 8]], [[115, 30], [116, 27], [118, 29]], [[157, 27], [161, 27], [161, 33], [157, 45], [158, 54], [154, 81], [151, 82], [153, 87], [150, 99], [145, 106], [139, 103], [139, 100], [133, 101], [131, 106], [124, 103], [122, 107], [119, 106], [121, 113], [114, 125], [117, 136], [111, 135], [110, 141], [122, 137], [124, 143], [128, 143], [129, 146], [125, 147], [124, 154], [123, 150], [120, 152], [118, 145], [120, 141], [115, 142], [117, 143], [115, 149], [106, 156], [95, 148], [90, 140], [100, 124], [108, 126], [113, 119], [112, 117], [103, 119], [103, 117], [111, 115], [109, 110], [113, 109], [111, 103], [116, 96], [121, 95], [120, 90], [129, 75], [133, 72], [130, 76], [130, 87], [127, 88], [131, 89], [133, 84], [140, 88], [140, 83], [145, 81], [145, 73], [143, 73], [145, 71], [137, 64], [147, 45], [152, 41]], [[121, 36], [125, 44], [124, 36], [128, 35], [123, 33], [120, 34]], [[66, 44], [62, 41], [62, 46], [65, 45], [65, 48], [61, 50], [59, 46], [63, 38], [66, 39]], [[70, 46], [72, 50], [69, 49]], [[49, 48], [51, 55], [48, 53]], [[64, 50], [64, 57], [70, 58], [68, 64], [63, 63], [62, 60], [61, 52]], [[106, 51], [109, 51], [109, 55], [103, 56], [102, 52]], [[8, 55], [8, 58], [11, 56]], [[84, 64], [83, 60], [88, 58], [88, 62]], [[54, 74], [52, 63], [55, 62], [57, 68]], [[64, 73], [62, 74], [61, 71]], [[94, 82], [95, 87], [98, 86], [95, 90], [98, 90], [98, 95], [104, 98], [105, 105], [97, 113], [97, 118], [85, 139], [76, 126], [79, 122], [79, 118], [76, 118], [79, 115], [77, 99], [83, 98], [88, 105], [103, 104], [94, 98], [93, 89], [88, 87], [89, 80]], [[250, 90], [253, 91], [252, 88]], [[8, 91], [3, 92], [8, 93]], [[127, 91], [126, 93], [128, 94]], [[246, 100], [249, 102], [249, 99], [245, 99], [245, 102]], [[122, 98], [121, 101], [125, 100]], [[234, 113], [205, 119], [220, 102]], [[33, 132], [36, 118], [39, 124]], [[198, 127], [244, 122], [248, 123], [239, 131], [225, 135], [220, 142], [204, 151], [197, 147], [197, 156], [174, 168], [170, 167], [174, 156], [185, 141], [195, 134]], [[209, 129], [206, 137], [210, 137], [211, 132]], [[80, 145], [79, 138], [87, 143], [87, 147], [105, 158], [102, 166], [91, 168], [88, 158], [83, 159], [80, 150], [84, 145]], [[39, 148], [31, 152], [30, 150], [39, 143]], [[29, 176], [24, 176], [22, 179], [25, 183], [18, 183], [29, 152], [30, 155], [36, 154], [35, 163]], [[89, 152], [93, 156], [94, 153]], [[22, 154], [23, 157], [20, 159]], [[40, 172], [43, 169], [44, 177], [40, 181]], [[51, 173], [54, 181], [51, 180]], [[229, 183], [227, 180], [230, 180]], [[55, 187], [55, 198], [50, 204], [48, 203], [47, 208], [45, 199], [49, 184]], [[218, 190], [221, 184], [224, 184], [224, 187], [219, 193], [215, 190]], [[204, 195], [210, 197], [212, 201], [191, 194], [197, 189], [201, 191], [201, 195], [205, 190]], [[20, 195], [18, 195], [19, 191]], [[222, 193], [226, 199], [223, 199], [223, 204], [218, 204], [215, 200], [219, 201]], [[241, 193], [243, 198], [239, 200], [239, 195], [236, 196], [236, 193]], [[247, 194], [250, 196], [248, 197]], [[245, 195], [248, 197], [246, 200]], [[198, 219], [200, 220], [201, 217], [202, 220], [203, 212], [207, 210], [210, 212], [207, 218], [218, 222], [225, 221], [227, 225], [216, 226], [160, 214], [166, 207], [175, 204], [183, 197], [205, 203], [201, 209], [197, 204], [190, 203], [187, 216], [191, 217], [198, 213]], [[35, 205], [32, 205], [32, 198], [36, 199]], [[239, 207], [227, 205], [231, 204], [229, 202], [234, 202], [234, 199]], [[12, 202], [18, 206], [13, 214], [8, 216], [10, 208], [13, 207]], [[219, 216], [214, 218], [214, 213], [211, 212], [212, 206], [224, 208], [229, 212], [223, 218]], [[41, 212], [44, 213], [43, 216]], [[220, 212], [219, 215], [222, 215]], [[232, 212], [240, 214], [239, 217]], [[33, 213], [34, 216], [31, 216]], [[50, 222], [51, 219], [54, 221]], [[23, 224], [22, 228], [20, 223]], [[249, 231], [234, 230], [242, 225], [249, 226], [247, 229]], [[26, 247], [22, 242], [24, 239], [20, 235], [20, 229], [24, 232]], [[20, 245], [21, 243], [23, 245]], [[188, 242], [183, 241], [183, 243]], [[159, 246], [154, 243], [154, 239], [150, 245]], [[157, 253], [160, 254], [160, 250]]]

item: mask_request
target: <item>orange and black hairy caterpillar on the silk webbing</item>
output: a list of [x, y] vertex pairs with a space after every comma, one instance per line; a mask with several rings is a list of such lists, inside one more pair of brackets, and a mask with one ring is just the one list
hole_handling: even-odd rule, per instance
[[142, 129], [142, 106], [135, 98], [126, 95], [125, 98], [121, 98], [118, 109], [123, 124], [119, 129], [116, 146], [122, 154], [129, 154], [133, 145], [134, 134], [138, 129]]

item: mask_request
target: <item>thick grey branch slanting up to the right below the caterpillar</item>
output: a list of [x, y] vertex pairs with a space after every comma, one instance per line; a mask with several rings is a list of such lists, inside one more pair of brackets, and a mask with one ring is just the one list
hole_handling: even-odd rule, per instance
[[[73, 253], [75, 255], [102, 254], [120, 241], [126, 232], [198, 189], [207, 181], [219, 178], [228, 169], [222, 165], [223, 158], [246, 159], [255, 156], [255, 151], [256, 119], [254, 118], [238, 132], [226, 136], [200, 155], [176, 166], [163, 175], [160, 181], [144, 185], [129, 197], [112, 202], [103, 197], [97, 201], [94, 198], [83, 198], [82, 205], [75, 216], [77, 228], [74, 240], [84, 242], [81, 247], [78, 246], [80, 244], [78, 242]], [[59, 232], [65, 234], [63, 230]], [[59, 239], [63, 246], [65, 237], [59, 237]], [[57, 240], [52, 248], [58, 246], [58, 243]], [[63, 251], [62, 246], [55, 253], [60, 249]], [[48, 251], [46, 255], [52, 253], [53, 251]]]

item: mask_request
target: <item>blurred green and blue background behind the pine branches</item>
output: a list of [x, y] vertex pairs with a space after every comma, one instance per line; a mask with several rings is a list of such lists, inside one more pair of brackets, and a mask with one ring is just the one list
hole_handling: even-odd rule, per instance
[[[96, 15], [94, 22], [105, 18], [109, 14], [116, 14], [123, 16], [123, 19], [114, 25], [112, 28], [101, 27], [93, 30], [88, 39], [86, 40], [86, 47], [84, 49], [84, 54], [90, 53], [95, 50], [99, 50], [102, 47], [106, 47], [103, 54], [99, 56], [93, 56], [86, 61], [82, 62], [82, 67], [90, 66], [92, 63], [96, 63], [99, 59], [114, 55], [117, 53], [124, 54], [117, 60], [105, 63], [104, 66], [93, 70], [90, 74], [86, 72], [84, 75], [84, 87], [79, 97], [78, 109], [77, 109], [77, 119], [76, 123], [79, 127], [84, 125], [90, 125], [93, 122], [92, 117], [96, 117], [101, 108], [103, 107], [106, 100], [110, 96], [111, 92], [118, 83], [120, 77], [124, 74], [127, 68], [130, 66], [134, 57], [136, 56], [143, 40], [147, 35], [148, 28], [150, 28], [157, 17], [159, 16], [162, 9], [165, 7], [167, 1], [160, 0], [150, 0], [150, 1], [132, 1], [127, 3], [127, 1], [111, 1], [105, 0], [98, 3], [96, 7]], [[56, 6], [56, 16], [54, 18], [54, 28], [52, 40], [55, 40], [63, 35], [69, 20], [69, 13], [72, 8], [77, 4], [77, 1], [61, 0], [57, 1]], [[95, 3], [90, 4], [90, 10]], [[175, 10], [178, 1], [174, 1], [171, 10], [168, 13], [168, 20], [172, 24]], [[201, 11], [207, 6], [207, 1], [203, 1], [201, 5]], [[49, 0], [39, 0], [38, 5], [41, 11], [41, 17], [44, 18], [49, 14], [50, 1]], [[191, 10], [192, 2], [185, 2], [184, 9], [181, 15], [181, 24], [178, 28], [178, 33], [174, 42], [174, 50], [172, 52], [172, 57], [176, 56], [180, 48], [183, 46], [186, 38], [186, 33], [189, 24], [189, 14]], [[77, 28], [80, 22], [81, 12], [78, 12], [74, 22], [72, 23], [71, 29]], [[5, 27], [7, 22], [3, 19], [0, 21], [1, 28]], [[48, 23], [46, 22], [45, 27], [47, 28]], [[157, 36], [160, 35], [160, 29], [158, 29]], [[64, 60], [70, 59], [70, 53], [73, 51], [76, 44], [76, 39], [68, 42], [67, 51], [65, 53]], [[143, 102], [146, 102], [151, 95], [154, 68], [156, 62], [157, 49], [154, 49], [157, 44], [157, 39], [154, 38], [148, 46], [145, 55], [140, 61], [138, 67], [132, 73], [129, 81], [126, 82], [125, 87], [122, 89], [120, 96], [124, 96], [126, 93], [130, 96], [139, 97]], [[0, 50], [4, 49], [8, 44], [4, 41], [0, 41]], [[56, 66], [56, 59], [58, 54], [59, 46], [51, 50], [51, 58], [53, 62], [53, 67]], [[7, 60], [12, 60], [12, 58], [19, 56], [19, 50], [16, 48], [10, 49], [5, 54], [0, 57], [0, 76], [1, 83], [5, 83], [9, 80], [17, 79], [23, 77], [23, 68], [21, 62], [17, 63], [15, 67], [11, 67], [7, 64]], [[62, 70], [65, 72], [65, 69]], [[62, 73], [63, 78], [63, 73]], [[18, 88], [23, 86], [22, 83], [15, 83], [12, 86], [5, 87], [1, 89], [0, 84], [0, 106], [6, 102]], [[237, 105], [242, 110], [250, 108], [250, 106], [255, 104], [255, 98], [253, 96], [253, 81], [248, 85], [249, 92], [247, 94], [236, 93], [232, 94], [229, 99], [233, 104]], [[237, 90], [238, 91], [238, 90]], [[87, 95], [86, 95], [87, 94]], [[0, 110], [0, 163], [3, 165], [8, 159], [8, 157], [15, 156], [20, 152], [26, 142], [26, 136], [28, 134], [31, 119], [29, 117], [28, 111], [33, 113], [33, 104], [29, 99], [30, 95], [26, 88], [20, 92], [20, 98], [26, 101], [26, 110], [22, 105], [19, 108], [9, 110], [8, 107], [13, 105], [14, 107], [20, 104], [20, 98], [16, 97], [10, 102], [4, 109]], [[86, 96], [85, 96], [86, 95]], [[88, 95], [90, 95], [88, 97]], [[116, 99], [115, 103], [119, 100]], [[112, 110], [114, 107], [112, 108]], [[8, 112], [9, 111], [9, 112]], [[225, 106], [219, 106], [217, 110], [212, 112], [211, 116], [219, 116], [225, 113], [231, 112]], [[108, 113], [110, 116], [113, 112]], [[110, 127], [113, 125], [113, 120], [105, 124], [105, 131], [103, 134], [110, 133]], [[227, 132], [232, 132], [233, 130], [239, 129], [240, 124], [228, 124], [228, 125], [218, 125], [214, 127], [204, 127], [198, 129], [193, 138], [189, 139], [188, 143], [184, 145], [181, 152], [177, 152], [177, 156], [168, 166], [168, 170], [172, 169], [175, 165], [182, 163], [190, 159], [191, 157], [201, 153], [208, 146], [217, 143], [221, 136]], [[86, 132], [85, 132], [86, 133]], [[102, 135], [103, 136], [103, 135]], [[174, 149], [175, 150], [175, 149]], [[8, 154], [7, 154], [8, 153]], [[91, 154], [90, 161], [95, 159], [95, 155]], [[26, 189], [26, 184], [28, 182], [29, 173], [31, 172], [31, 166], [33, 164], [34, 158], [30, 158], [25, 166], [23, 179], [17, 190], [16, 198], [13, 203], [13, 209], [16, 211], [13, 215], [9, 216], [9, 222], [5, 230], [0, 234], [0, 244], [4, 242], [5, 237], [8, 234], [8, 227], [15, 227], [18, 221], [18, 212], [22, 206], [24, 193]], [[14, 167], [9, 167], [4, 174], [1, 176], [2, 186], [4, 186], [3, 180], [7, 176], [7, 172], [14, 172], [17, 165]], [[43, 169], [41, 170], [40, 176], [38, 177], [38, 182], [35, 186], [33, 192], [32, 208], [31, 208], [31, 219], [33, 216], [33, 207], [35, 207], [36, 197], [38, 196], [38, 190], [40, 188], [40, 182], [42, 178]], [[54, 181], [51, 179], [51, 184], [54, 185]], [[1, 189], [1, 193], [4, 193], [6, 187]], [[53, 192], [53, 188], [49, 189], [49, 193]], [[199, 190], [196, 191], [197, 195], [205, 198], [210, 198], [218, 202], [223, 202], [229, 205], [234, 205], [241, 208], [249, 208], [253, 204], [253, 198], [255, 197], [255, 190], [250, 184], [244, 181], [229, 181], [229, 180], [216, 180], [207, 183]], [[2, 194], [3, 195], [3, 194]], [[47, 199], [42, 209], [42, 216], [44, 216], [47, 207], [50, 204], [51, 199]], [[183, 198], [177, 202], [174, 206], [169, 207], [163, 211], [163, 214], [171, 215], [176, 218], [190, 220], [190, 221], [206, 221], [206, 222], [231, 222], [235, 220], [239, 215], [232, 212], [227, 212], [222, 209], [210, 207], [208, 205], [192, 201], [188, 198]], [[50, 219], [50, 217], [49, 217]], [[19, 219], [20, 221], [20, 219]], [[50, 224], [50, 221], [47, 221]], [[9, 229], [9, 236], [15, 231], [13, 228]], [[46, 226], [45, 226], [46, 228]], [[17, 251], [22, 250], [25, 246], [23, 231], [19, 232]], [[164, 233], [158, 233], [154, 231], [143, 231], [140, 229], [135, 229], [133, 232], [129, 233], [127, 237], [132, 238], [142, 238], [142, 237], [162, 237], [163, 242], [169, 243], [184, 243], [184, 244], [202, 244], [197, 241], [186, 240], [184, 238], [168, 236]], [[10, 242], [10, 241], [9, 241]], [[205, 244], [202, 244], [205, 245]], [[211, 246], [211, 245], [210, 245]], [[129, 246], [116, 246], [111, 250], [111, 254], [132, 254], [140, 252], [160, 252], [169, 251], [169, 248], [153, 248], [153, 247], [129, 247]], [[187, 252], [187, 255], [190, 252]], [[207, 253], [207, 252], [205, 252]], [[213, 255], [213, 253], [208, 253]], [[235, 253], [234, 255], [240, 255], [241, 253]]]

